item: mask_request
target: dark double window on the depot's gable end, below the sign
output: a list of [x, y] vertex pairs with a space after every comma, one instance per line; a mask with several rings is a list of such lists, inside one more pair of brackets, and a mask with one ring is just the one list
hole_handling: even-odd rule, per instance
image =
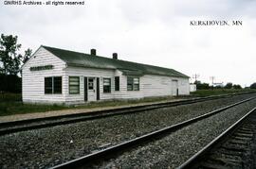
[[62, 93], [62, 76], [45, 77], [45, 93]]

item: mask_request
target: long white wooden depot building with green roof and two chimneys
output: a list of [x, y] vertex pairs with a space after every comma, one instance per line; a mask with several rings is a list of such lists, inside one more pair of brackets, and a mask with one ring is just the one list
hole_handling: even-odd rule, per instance
[[22, 67], [25, 103], [78, 104], [190, 93], [189, 76], [174, 69], [40, 46]]

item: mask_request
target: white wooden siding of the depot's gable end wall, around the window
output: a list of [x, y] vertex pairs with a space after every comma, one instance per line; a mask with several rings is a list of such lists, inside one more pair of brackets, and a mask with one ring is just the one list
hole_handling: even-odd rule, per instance
[[[52, 70], [30, 71], [30, 67], [53, 65]], [[45, 94], [46, 76], [63, 76], [65, 63], [40, 47], [22, 69], [22, 96], [24, 102], [64, 102], [64, 93]], [[64, 79], [63, 79], [64, 81]], [[63, 86], [65, 84], [63, 83]]]

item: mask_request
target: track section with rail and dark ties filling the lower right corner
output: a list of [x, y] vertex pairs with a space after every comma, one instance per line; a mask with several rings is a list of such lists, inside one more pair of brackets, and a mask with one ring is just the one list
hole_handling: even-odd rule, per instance
[[250, 160], [255, 152], [255, 129], [256, 108], [178, 168], [255, 168], [256, 161]]

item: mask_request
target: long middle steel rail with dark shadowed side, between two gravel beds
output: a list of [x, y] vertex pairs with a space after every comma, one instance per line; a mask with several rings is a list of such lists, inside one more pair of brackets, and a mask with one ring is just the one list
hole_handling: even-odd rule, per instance
[[107, 159], [115, 158], [118, 154], [131, 149], [132, 147], [141, 145], [141, 144], [146, 144], [149, 142], [155, 141], [155, 139], [160, 139], [178, 129], [181, 129], [183, 127], [188, 127], [192, 125], [195, 122], [198, 122], [200, 120], [204, 120], [214, 114], [217, 114], [219, 112], [222, 112], [224, 110], [229, 110], [230, 108], [233, 108], [235, 106], [238, 106], [240, 104], [243, 104], [245, 102], [248, 102], [252, 99], [255, 99], [256, 97], [251, 97], [246, 100], [234, 103], [232, 105], [226, 106], [224, 108], [218, 109], [218, 110], [213, 110], [210, 111], [204, 115], [200, 115], [198, 117], [194, 117], [190, 120], [186, 120], [184, 122], [175, 124], [171, 127], [164, 127], [161, 129], [158, 129], [154, 132], [142, 135], [140, 137], [137, 137], [135, 139], [123, 142], [121, 144], [116, 144], [114, 146], [107, 147], [105, 149], [99, 150], [97, 152], [94, 152], [92, 154], [88, 154], [86, 156], [83, 156], [79, 159], [73, 160], [73, 161], [67, 161], [63, 164], [56, 165], [52, 167], [52, 169], [57, 169], [57, 168], [79, 168], [79, 167], [91, 167], [93, 164], [98, 163], [100, 161], [105, 161]]

